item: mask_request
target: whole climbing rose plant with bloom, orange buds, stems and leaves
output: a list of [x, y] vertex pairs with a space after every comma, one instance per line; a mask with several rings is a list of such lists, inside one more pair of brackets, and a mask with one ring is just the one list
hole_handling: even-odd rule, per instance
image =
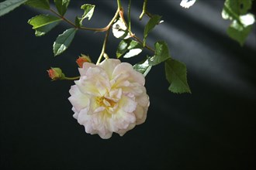
[[[5, 0], [0, 2], [0, 16], [20, 5], [45, 10], [47, 14], [36, 15], [28, 21], [35, 30], [35, 36], [44, 36], [61, 22], [67, 22], [70, 27], [58, 35], [54, 41], [54, 56], [59, 56], [68, 49], [78, 29], [105, 33], [102, 52], [95, 63], [94, 58], [91, 59], [84, 54], [76, 59], [80, 75], [65, 76], [59, 67], [51, 67], [47, 70], [51, 80], [74, 80], [74, 85], [69, 91], [71, 97], [68, 98], [73, 106], [74, 118], [85, 127], [86, 133], [99, 134], [104, 139], [111, 138], [113, 132], [123, 136], [137, 124], [142, 124], [146, 120], [150, 101], [144, 87], [145, 76], [152, 66], [164, 63], [165, 76], [170, 83], [168, 90], [173, 93], [191, 93], [185, 63], [181, 63], [170, 55], [168, 44], [163, 40], [157, 40], [154, 47], [147, 44], [150, 32], [163, 22], [161, 15], [152, 15], [147, 10], [147, 2], [155, 3], [155, 1], [144, 0], [142, 12], [138, 16], [139, 20], [145, 15], [148, 17], [142, 38], [135, 36], [136, 34], [131, 29], [132, 0], [125, 1], [129, 2], [126, 10], [121, 3], [123, 1], [109, 1], [109, 3], [116, 3], [116, 13], [113, 14], [108, 25], [103, 28], [83, 26], [85, 20], [92, 19], [95, 11], [95, 5], [92, 4], [81, 5], [79, 10], [83, 11], [83, 15], [75, 17], [74, 22], [71, 22], [65, 17], [71, 0]], [[250, 13], [252, 1], [226, 0], [223, 4], [223, 19], [231, 21], [227, 34], [241, 46], [244, 45], [255, 22], [254, 15]], [[182, 0], [180, 5], [183, 8], [191, 8], [196, 4], [195, 2], [196, 0]], [[116, 39], [119, 39], [116, 56], [111, 58], [106, 53], [110, 32]], [[138, 56], [144, 50], [147, 50], [148, 55], [133, 66], [121, 61], [122, 58]]]

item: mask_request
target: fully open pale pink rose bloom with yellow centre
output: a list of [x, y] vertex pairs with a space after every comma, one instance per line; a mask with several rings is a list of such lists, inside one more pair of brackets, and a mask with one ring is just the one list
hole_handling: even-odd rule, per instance
[[112, 132], [123, 136], [144, 123], [150, 104], [145, 79], [130, 63], [105, 59], [99, 65], [84, 63], [78, 69], [81, 77], [74, 81], [68, 100], [86, 133], [106, 139]]

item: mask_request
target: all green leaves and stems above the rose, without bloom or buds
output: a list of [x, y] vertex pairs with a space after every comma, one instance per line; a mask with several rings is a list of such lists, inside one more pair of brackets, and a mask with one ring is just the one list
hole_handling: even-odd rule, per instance
[[[143, 11], [139, 17], [139, 19], [142, 19], [144, 15], [149, 17], [147, 24], [144, 26], [144, 37], [142, 40], [135, 36], [131, 30], [130, 11], [132, 0], [129, 0], [127, 17], [124, 16], [124, 9], [121, 5], [121, 0], [116, 0], [118, 6], [116, 9], [116, 14], [106, 27], [99, 29], [83, 26], [85, 19], [88, 19], [88, 21], [92, 19], [92, 15], [95, 12], [95, 5], [81, 5], [81, 10], [83, 10], [84, 13], [81, 16], [77, 16], [74, 19], [75, 22], [73, 23], [64, 17], [71, 1], [54, 0], [53, 2], [56, 11], [50, 6], [49, 0], [6, 0], [0, 3], [0, 15], [5, 15], [22, 4], [28, 5], [32, 8], [47, 10], [47, 12], [49, 12], [51, 15], [36, 15], [28, 21], [29, 25], [33, 26], [33, 29], [35, 29], [36, 36], [43, 36], [47, 34], [47, 32], [50, 32], [51, 29], [54, 29], [54, 27], [60, 22], [67, 22], [71, 28], [64, 30], [61, 35], [57, 36], [57, 39], [54, 41], [53, 45], [54, 56], [61, 55], [61, 53], [64, 53], [64, 51], [67, 50], [67, 48], [71, 45], [71, 42], [73, 41], [78, 29], [85, 31], [106, 32], [104, 43], [102, 45], [102, 53], [99, 55], [97, 64], [101, 62], [102, 57], [105, 57], [106, 59], [109, 58], [105, 51], [109, 32], [112, 28], [114, 36], [115, 31], [117, 33], [123, 33], [121, 36], [116, 36], [120, 39], [119, 46], [117, 46], [116, 50], [117, 58], [121, 58], [122, 56], [123, 58], [138, 56], [144, 49], [147, 49], [150, 51], [150, 54], [144, 56], [144, 59], [142, 59], [140, 63], [135, 64], [133, 69], [146, 76], [147, 73], [150, 72], [152, 66], [164, 63], [165, 76], [170, 83], [170, 87], [168, 89], [173, 93], [191, 93], [189, 84], [187, 82], [186, 66], [184, 63], [181, 63], [171, 57], [168, 44], [162, 40], [157, 40], [154, 43], [154, 48], [147, 45], [147, 37], [150, 35], [150, 32], [152, 32], [153, 29], [161, 23], [160, 15], [151, 15], [150, 12], [147, 11], [147, 0], [144, 0]], [[189, 8], [194, 3], [195, 0], [182, 0], [181, 5], [184, 8]], [[251, 9], [251, 5], [252, 0], [226, 0], [223, 5], [223, 19], [231, 20], [230, 27], [227, 29], [227, 34], [232, 39], [240, 42], [240, 45], [244, 44], [254, 24], [254, 15], [248, 12]], [[75, 78], [76, 77], [65, 77], [64, 79], [74, 80]]]

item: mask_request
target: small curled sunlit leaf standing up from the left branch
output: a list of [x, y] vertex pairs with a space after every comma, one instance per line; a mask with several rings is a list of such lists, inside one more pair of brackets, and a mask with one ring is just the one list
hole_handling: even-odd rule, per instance
[[81, 9], [84, 9], [85, 12], [81, 16], [81, 18], [77, 17], [75, 20], [76, 26], [78, 26], [78, 27], [82, 26], [82, 22], [84, 19], [88, 18], [88, 20], [90, 20], [92, 18], [92, 15], [93, 15], [93, 12], [95, 9], [95, 5], [84, 4], [84, 5], [81, 5]]

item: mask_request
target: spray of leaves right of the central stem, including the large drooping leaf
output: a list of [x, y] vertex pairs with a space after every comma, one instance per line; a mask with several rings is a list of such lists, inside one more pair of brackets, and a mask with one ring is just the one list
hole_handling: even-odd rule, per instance
[[[116, 56], [119, 58], [130, 58], [137, 56], [146, 46], [147, 36], [161, 22], [160, 15], [152, 15], [144, 28], [144, 40], [138, 42], [133, 39], [123, 39], [117, 48]], [[164, 63], [165, 76], [170, 83], [170, 90], [173, 93], [191, 93], [189, 84], [187, 82], [187, 70], [184, 63], [172, 59], [169, 54], [168, 45], [164, 41], [157, 41], [154, 43], [154, 56], [147, 56], [140, 63], [133, 66], [135, 70], [147, 76], [152, 66]]]

